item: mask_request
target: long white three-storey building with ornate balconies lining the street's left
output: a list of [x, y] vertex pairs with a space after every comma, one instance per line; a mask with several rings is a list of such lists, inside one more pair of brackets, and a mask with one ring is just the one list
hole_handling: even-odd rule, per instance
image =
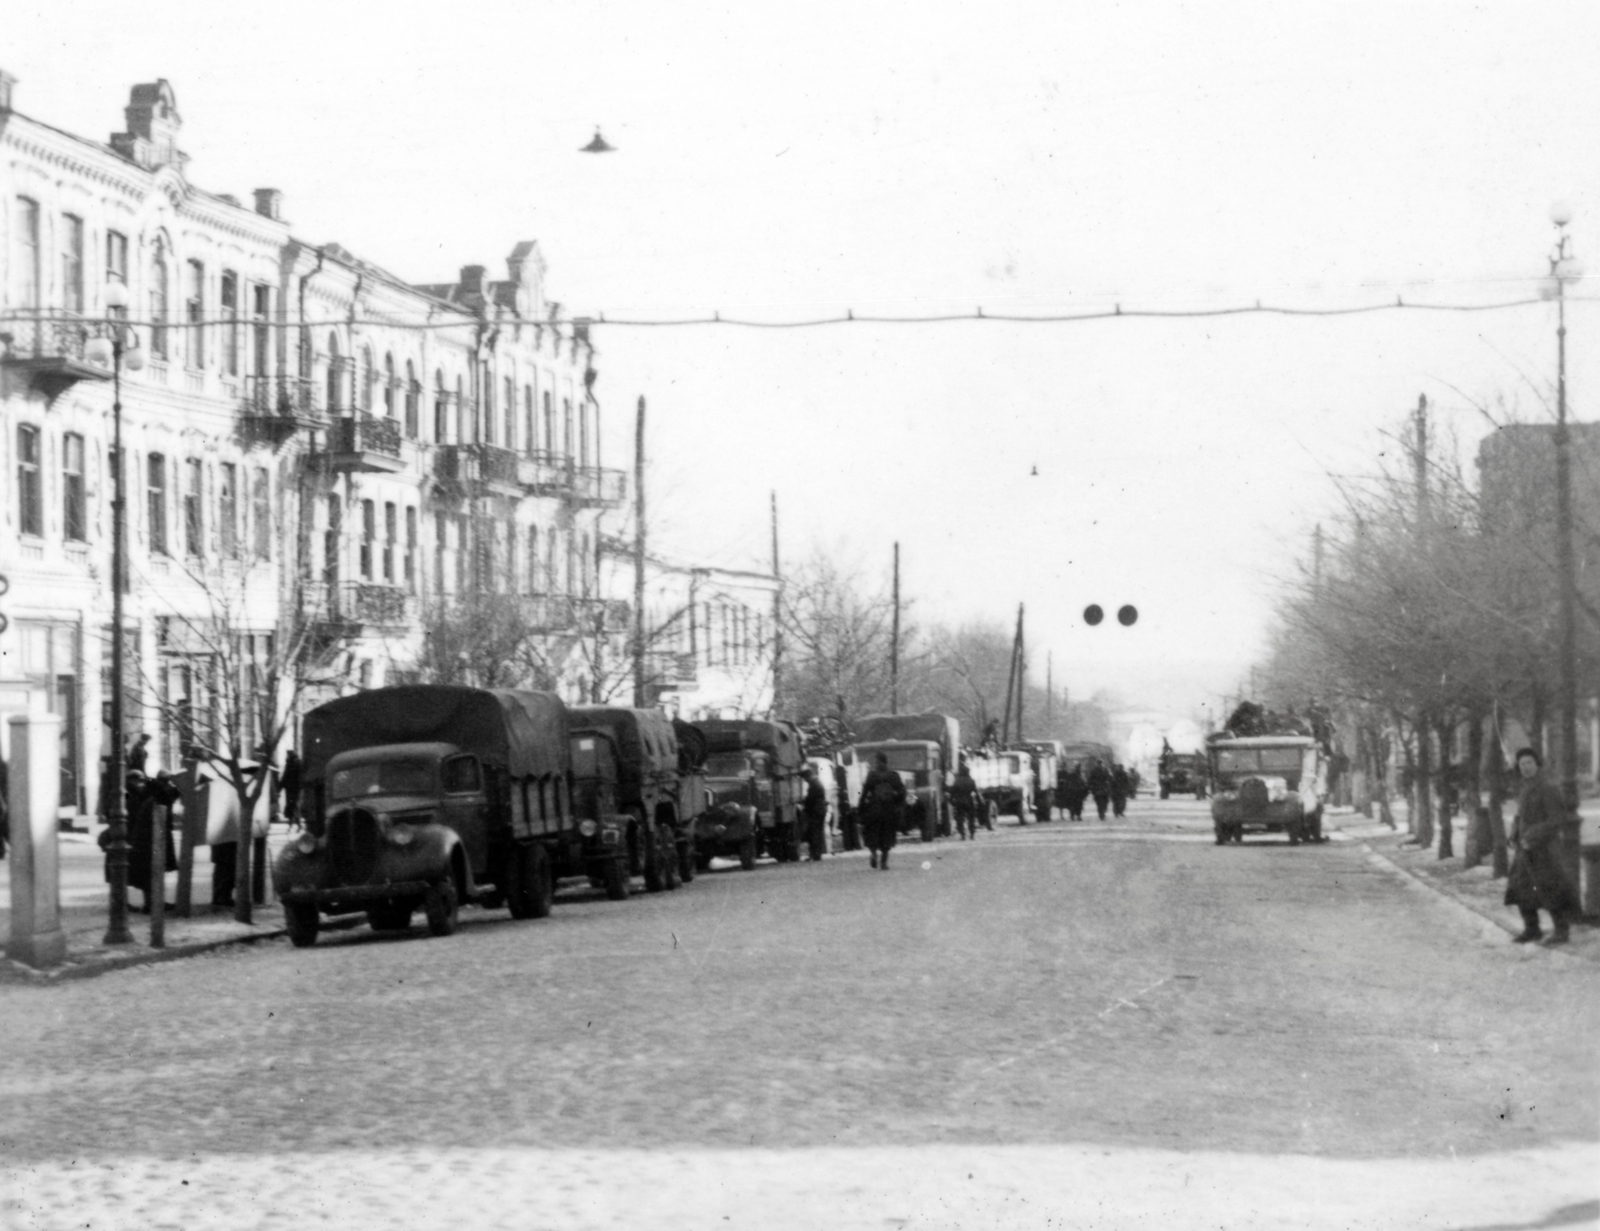
[[[533, 243], [504, 280], [408, 285], [296, 239], [272, 189], [245, 207], [190, 184], [166, 82], [134, 86], [109, 142], [22, 115], [14, 85], [0, 74], [0, 714], [64, 719], [64, 813], [94, 807], [110, 735], [114, 381], [86, 347], [117, 315], [144, 359], [120, 373], [125, 733], [157, 736], [157, 762], [214, 706], [213, 632], [310, 621], [344, 687], [405, 671], [466, 595], [515, 595], [576, 642], [626, 475], [602, 467], [587, 330], [546, 301]], [[582, 695], [582, 664], [552, 661]]]

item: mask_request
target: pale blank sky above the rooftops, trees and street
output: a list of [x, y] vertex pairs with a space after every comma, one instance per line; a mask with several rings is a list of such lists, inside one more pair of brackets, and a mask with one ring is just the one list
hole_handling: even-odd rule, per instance
[[[586, 314], [1046, 314], [1534, 291], [1600, 267], [1600, 6], [10, 0], [18, 110], [106, 139], [166, 77], [192, 182], [285, 192], [411, 282], [536, 239]], [[600, 125], [618, 152], [579, 155]], [[1600, 312], [1571, 314], [1579, 418]], [[1192, 708], [1426, 392], [1552, 413], [1554, 309], [816, 330], [602, 327], [677, 559], [821, 547], [922, 620], [1029, 611], [1075, 695]], [[1037, 469], [1037, 475], [1034, 471]], [[1086, 603], [1136, 603], [1088, 629]]]

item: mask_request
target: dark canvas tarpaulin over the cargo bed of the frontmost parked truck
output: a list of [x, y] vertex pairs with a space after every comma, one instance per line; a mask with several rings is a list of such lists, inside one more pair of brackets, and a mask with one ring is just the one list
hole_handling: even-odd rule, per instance
[[328, 759], [355, 748], [446, 743], [512, 778], [565, 776], [570, 760], [565, 708], [554, 693], [414, 684], [317, 706], [306, 716], [307, 781]]

